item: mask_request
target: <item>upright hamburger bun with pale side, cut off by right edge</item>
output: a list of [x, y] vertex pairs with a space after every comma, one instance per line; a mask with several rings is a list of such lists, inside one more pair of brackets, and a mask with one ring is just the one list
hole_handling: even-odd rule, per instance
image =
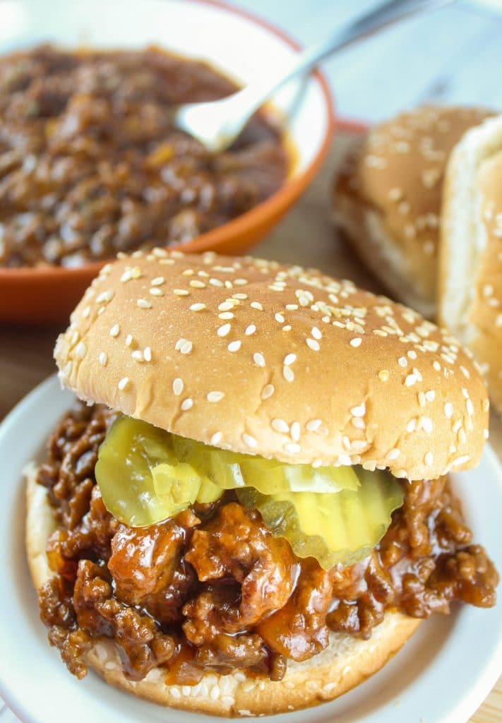
[[439, 312], [482, 364], [502, 412], [502, 116], [470, 130], [446, 172]]

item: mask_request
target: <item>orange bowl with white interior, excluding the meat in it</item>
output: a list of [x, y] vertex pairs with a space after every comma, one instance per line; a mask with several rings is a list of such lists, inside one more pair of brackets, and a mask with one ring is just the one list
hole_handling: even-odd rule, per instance
[[[297, 54], [299, 46], [281, 30], [213, 0], [38, 0], [0, 3], [0, 52], [53, 42], [66, 47], [141, 48], [150, 43], [205, 59], [241, 85], [266, 77]], [[271, 98], [286, 117], [298, 85]], [[333, 134], [333, 103], [320, 72], [310, 75], [286, 121], [294, 149], [289, 176], [276, 193], [223, 226], [182, 245], [185, 252], [237, 254], [263, 238], [297, 200], [319, 170]], [[174, 246], [171, 246], [174, 248]], [[80, 268], [0, 268], [0, 321], [57, 322], [67, 319], [82, 292], [105, 262]]]

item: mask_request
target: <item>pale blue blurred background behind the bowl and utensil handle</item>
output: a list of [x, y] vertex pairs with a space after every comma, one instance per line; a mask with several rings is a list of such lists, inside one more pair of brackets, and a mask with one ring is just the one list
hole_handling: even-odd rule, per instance
[[[302, 45], [380, 0], [234, 0]], [[417, 103], [502, 107], [502, 1], [462, 0], [412, 17], [323, 62], [339, 114], [380, 121]]]

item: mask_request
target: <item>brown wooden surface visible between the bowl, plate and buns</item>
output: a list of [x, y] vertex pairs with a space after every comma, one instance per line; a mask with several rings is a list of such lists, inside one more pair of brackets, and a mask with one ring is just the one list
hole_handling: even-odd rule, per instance
[[[339, 133], [320, 175], [297, 206], [252, 253], [265, 258], [301, 263], [341, 278], [352, 278], [373, 291], [383, 291], [360, 266], [331, 227], [328, 213], [329, 185], [333, 169], [349, 142]], [[61, 325], [60, 328], [63, 328]], [[54, 372], [52, 348], [58, 327], [7, 327], [0, 325], [0, 419], [38, 382]], [[492, 417], [490, 442], [502, 460], [502, 422]], [[454, 674], [454, 670], [452, 670]], [[7, 707], [0, 723], [17, 718]], [[502, 677], [470, 723], [502, 721]], [[405, 722], [404, 722], [405, 723]]]

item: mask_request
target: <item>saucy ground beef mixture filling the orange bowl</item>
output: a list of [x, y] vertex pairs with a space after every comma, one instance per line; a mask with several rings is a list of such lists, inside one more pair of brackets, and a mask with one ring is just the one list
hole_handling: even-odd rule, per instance
[[180, 103], [235, 90], [156, 48], [2, 56], [0, 266], [183, 243], [271, 196], [289, 161], [263, 114], [216, 154], [173, 125]]

